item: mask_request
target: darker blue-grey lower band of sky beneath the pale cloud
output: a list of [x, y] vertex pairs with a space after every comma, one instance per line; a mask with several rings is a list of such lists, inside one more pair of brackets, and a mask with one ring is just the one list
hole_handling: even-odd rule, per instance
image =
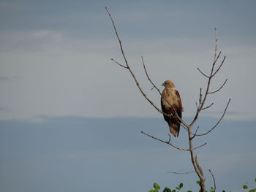
[[[187, 120], [187, 119], [186, 119]], [[200, 133], [217, 119], [202, 118]], [[224, 120], [195, 145], [208, 187], [241, 191], [255, 178], [255, 120]], [[148, 191], [154, 182], [198, 190], [189, 153], [140, 134], [168, 139], [162, 118], [45, 118], [43, 122], [0, 120], [1, 191]], [[242, 133], [241, 133], [242, 132]], [[187, 147], [181, 129], [173, 143]]]

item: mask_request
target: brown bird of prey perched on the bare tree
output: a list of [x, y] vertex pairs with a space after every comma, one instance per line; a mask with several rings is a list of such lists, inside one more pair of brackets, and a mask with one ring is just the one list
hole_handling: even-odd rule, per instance
[[178, 137], [181, 122], [176, 117], [176, 112], [178, 117], [182, 118], [181, 113], [183, 111], [183, 107], [181, 104], [181, 96], [179, 95], [172, 81], [166, 80], [164, 83], [162, 83], [162, 86], [165, 87], [165, 89], [162, 91], [161, 97], [162, 112], [173, 115], [171, 117], [164, 115], [164, 118], [168, 123], [170, 133], [175, 137]]

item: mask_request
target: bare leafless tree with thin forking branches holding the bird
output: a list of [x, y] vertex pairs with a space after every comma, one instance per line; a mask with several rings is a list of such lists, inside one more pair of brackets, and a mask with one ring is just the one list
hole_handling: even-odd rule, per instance
[[[107, 7], [105, 7], [105, 9], [108, 12], [108, 16], [109, 16], [109, 18], [110, 18], [110, 20], [111, 20], [111, 22], [113, 24], [113, 28], [114, 28], [114, 31], [116, 33], [116, 37], [118, 39], [119, 47], [120, 47], [120, 50], [121, 50], [121, 55], [124, 58], [124, 64], [120, 64], [118, 61], [116, 61], [113, 58], [111, 58], [111, 60], [115, 64], [118, 64], [118, 66], [121, 66], [124, 69], [127, 69], [129, 71], [129, 73], [132, 75], [133, 80], [135, 81], [135, 85], [137, 85], [138, 89], [140, 90], [140, 93], [155, 108], [155, 110], [157, 110], [158, 112], [162, 113], [163, 115], [167, 115], [169, 117], [172, 116], [170, 114], [162, 112], [162, 110], [160, 110], [160, 108], [157, 107], [157, 105], [154, 104], [154, 102], [151, 101], [151, 99], [149, 99], [149, 97], [146, 95], [146, 93], [140, 87], [140, 83], [138, 82], [137, 78], [135, 77], [135, 74], [132, 72], [132, 69], [129, 66], [129, 63], [127, 61], [127, 57], [126, 57], [125, 52], [124, 52], [124, 47], [122, 45], [120, 37], [118, 36], [118, 31], [116, 30], [116, 25], [114, 23], [114, 20], [111, 17], [110, 12], [108, 11]], [[230, 104], [230, 99], [228, 99], [227, 104], [225, 106], [225, 109], [224, 109], [224, 111], [222, 113], [222, 116], [219, 118], [217, 123], [212, 128], [210, 128], [208, 131], [204, 132], [203, 134], [197, 134], [199, 126], [197, 126], [197, 128], [195, 128], [195, 131], [193, 131], [193, 127], [195, 126], [195, 122], [197, 121], [197, 119], [198, 119], [198, 117], [200, 115], [200, 112], [203, 112], [203, 110], [206, 110], [206, 109], [210, 108], [214, 104], [214, 103], [211, 103], [210, 105], [205, 106], [206, 105], [206, 100], [208, 98], [208, 95], [213, 94], [213, 93], [217, 93], [218, 91], [220, 91], [224, 87], [226, 82], [227, 82], [227, 79], [226, 79], [225, 82], [223, 82], [222, 85], [220, 85], [219, 88], [216, 91], [211, 91], [211, 81], [214, 79], [215, 75], [219, 72], [219, 69], [221, 69], [222, 64], [224, 64], [225, 58], [226, 58], [224, 56], [221, 59], [221, 61], [219, 62], [220, 63], [219, 66], [218, 67], [216, 66], [216, 64], [220, 60], [220, 56], [221, 56], [221, 52], [217, 53], [217, 33], [216, 33], [216, 31], [217, 30], [215, 28], [214, 61], [211, 64], [211, 71], [209, 72], [209, 74], [206, 74], [206, 73], [202, 72], [199, 68], [197, 68], [197, 70], [200, 72], [200, 74], [202, 74], [204, 77], [206, 77], [207, 84], [206, 84], [206, 90], [205, 91], [203, 91], [203, 89], [200, 88], [199, 99], [198, 99], [197, 102], [195, 102], [195, 104], [196, 104], [195, 117], [192, 119], [191, 123], [186, 123], [184, 120], [179, 118], [177, 113], [176, 113], [176, 118], [178, 118], [178, 120], [180, 120], [181, 126], [184, 129], [186, 129], [186, 131], [187, 131], [187, 139], [189, 141], [189, 147], [182, 148], [182, 147], [177, 147], [176, 145], [173, 145], [173, 143], [170, 142], [170, 135], [169, 135], [169, 139], [167, 141], [164, 141], [162, 139], [159, 139], [157, 137], [151, 136], [150, 134], [147, 134], [147, 133], [141, 131], [142, 134], [145, 134], [146, 136], [151, 137], [152, 139], [156, 139], [159, 142], [164, 142], [165, 144], [170, 145], [171, 147], [174, 147], [177, 150], [184, 150], [184, 151], [188, 151], [189, 152], [190, 158], [191, 158], [191, 161], [192, 161], [192, 165], [193, 165], [193, 167], [195, 169], [195, 172], [196, 172], [197, 176], [200, 179], [200, 191], [201, 192], [205, 192], [206, 191], [206, 185], [205, 185], [206, 177], [204, 176], [203, 169], [202, 169], [202, 167], [200, 166], [200, 164], [199, 164], [199, 162], [197, 160], [197, 155], [195, 154], [195, 150], [198, 149], [199, 147], [203, 147], [204, 145], [206, 145], [206, 143], [203, 143], [200, 146], [194, 147], [194, 144], [193, 144], [194, 142], [193, 141], [194, 141], [194, 139], [196, 137], [205, 136], [206, 134], [209, 134], [211, 131], [213, 131], [214, 128], [216, 128], [219, 125], [220, 121], [225, 116], [225, 112], [227, 111], [227, 107]], [[142, 60], [143, 68], [144, 68], [144, 71], [145, 71], [146, 76], [148, 78], [148, 81], [151, 82], [151, 85], [153, 85], [153, 88], [155, 88], [159, 92], [160, 96], [162, 96], [162, 93], [159, 91], [159, 88], [157, 88], [157, 86], [154, 85], [154, 82], [152, 82], [151, 78], [148, 76], [148, 72], [146, 70], [146, 66], [145, 66], [144, 61], [143, 61], [143, 57], [141, 57], [141, 60]], [[209, 172], [211, 173], [211, 170], [209, 170]], [[175, 174], [187, 174], [187, 173], [191, 173], [191, 172], [186, 172], [186, 173], [173, 172], [173, 173], [175, 173]], [[215, 183], [215, 179], [214, 179], [214, 174], [211, 173], [211, 176], [213, 177], [213, 180], [214, 180], [214, 191], [215, 191], [216, 183]]]

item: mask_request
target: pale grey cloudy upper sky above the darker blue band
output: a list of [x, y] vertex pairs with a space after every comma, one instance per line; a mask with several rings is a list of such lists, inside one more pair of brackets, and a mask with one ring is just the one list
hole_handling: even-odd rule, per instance
[[[229, 98], [236, 118], [255, 118], [255, 1], [1, 1], [1, 119], [40, 115], [159, 117], [140, 96], [122, 62], [105, 6], [116, 20], [127, 58], [148, 96], [140, 56], [157, 85], [170, 79], [195, 111], [199, 88], [218, 47], [227, 60], [212, 84], [220, 112]], [[210, 101], [209, 101], [210, 102]]]

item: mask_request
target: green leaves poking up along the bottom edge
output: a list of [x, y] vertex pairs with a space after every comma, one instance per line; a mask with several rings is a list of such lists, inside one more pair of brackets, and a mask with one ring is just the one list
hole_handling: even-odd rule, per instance
[[[200, 181], [197, 181], [196, 183], [200, 186]], [[256, 178], [255, 178], [255, 183], [256, 183]], [[164, 188], [164, 190], [162, 192], [181, 192], [181, 188], [183, 188], [183, 186], [184, 186], [183, 183], [180, 183], [173, 190], [166, 187], [166, 188]], [[159, 192], [159, 190], [161, 188], [158, 183], [154, 183], [153, 187], [154, 187], [154, 189], [151, 189], [148, 192]], [[243, 191], [241, 191], [241, 192], [256, 192], [256, 188], [249, 189], [247, 183], [242, 186], [242, 189], [243, 189]], [[192, 192], [192, 191], [189, 190], [187, 192]], [[200, 192], [200, 190], [199, 190], [199, 192]], [[206, 192], [216, 192], [216, 191], [213, 187], [211, 187], [209, 189], [209, 191], [206, 191]], [[222, 190], [222, 192], [225, 192], [225, 190]]]

